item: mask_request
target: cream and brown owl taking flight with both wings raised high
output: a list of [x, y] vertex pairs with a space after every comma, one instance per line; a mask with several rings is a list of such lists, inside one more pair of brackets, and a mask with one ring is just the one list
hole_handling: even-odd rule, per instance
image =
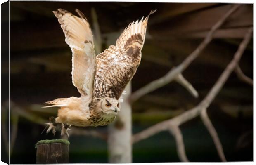
[[[156, 10], [149, 13], [153, 14]], [[120, 97], [133, 78], [141, 60], [149, 15], [133, 21], [104, 52], [95, 55], [92, 31], [84, 14], [78, 16], [64, 9], [53, 11], [72, 51], [72, 82], [81, 97], [60, 98], [45, 104], [60, 107], [57, 118], [51, 118], [47, 133], [55, 134], [62, 123], [61, 135], [69, 126], [101, 126], [111, 123], [120, 111]]]

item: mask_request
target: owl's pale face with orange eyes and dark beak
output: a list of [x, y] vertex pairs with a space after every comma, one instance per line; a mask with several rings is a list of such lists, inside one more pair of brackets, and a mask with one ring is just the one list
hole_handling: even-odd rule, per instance
[[117, 115], [117, 112], [120, 111], [119, 101], [114, 98], [105, 97], [102, 99], [101, 109], [103, 113]]

